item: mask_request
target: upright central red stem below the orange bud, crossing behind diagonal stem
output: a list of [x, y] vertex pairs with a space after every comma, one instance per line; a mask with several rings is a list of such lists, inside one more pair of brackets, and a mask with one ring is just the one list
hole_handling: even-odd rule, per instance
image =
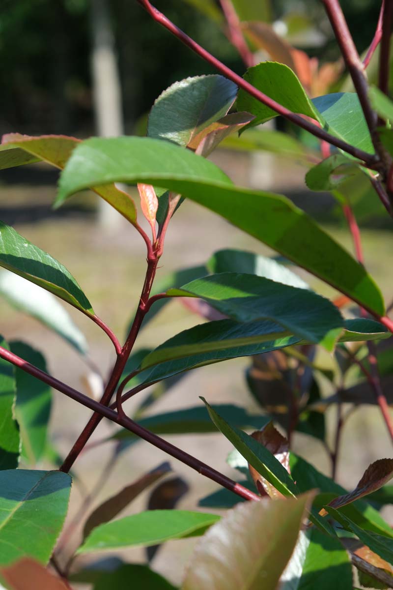
[[[104, 394], [100, 400], [100, 404], [102, 405], [108, 406], [110, 404], [117, 384], [120, 381], [121, 375], [123, 374], [124, 367], [126, 366], [128, 357], [130, 356], [130, 352], [133, 349], [134, 343], [137, 339], [137, 335], [143, 322], [144, 316], [147, 313], [146, 304], [148, 301], [148, 297], [150, 295], [151, 286], [153, 285], [157, 264], [158, 257], [151, 250], [148, 253], [146, 277], [143, 284], [138, 309], [135, 314], [134, 321], [130, 329], [130, 333], [127, 336], [126, 343], [124, 344], [123, 348], [121, 348], [120, 353], [118, 354], [110, 379], [107, 383], [107, 386], [105, 387]], [[100, 424], [101, 419], [102, 416], [100, 414], [93, 414], [93, 416], [87, 422], [87, 425], [84, 427], [81, 434], [75, 441], [70, 453], [68, 453], [67, 457], [65, 458], [64, 463], [60, 468], [61, 471], [64, 471], [65, 473], [68, 473], [68, 471], [70, 471], [72, 465], [74, 464], [74, 461], [81, 453], [83, 447], [93, 434], [95, 428], [97, 428], [98, 424]]]

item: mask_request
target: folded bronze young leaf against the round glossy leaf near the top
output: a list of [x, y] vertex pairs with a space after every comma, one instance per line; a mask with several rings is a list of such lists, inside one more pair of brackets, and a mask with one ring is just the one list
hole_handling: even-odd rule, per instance
[[195, 150], [197, 154], [206, 158], [227, 136], [240, 131], [253, 119], [255, 116], [250, 113], [227, 114], [193, 136], [187, 148]]

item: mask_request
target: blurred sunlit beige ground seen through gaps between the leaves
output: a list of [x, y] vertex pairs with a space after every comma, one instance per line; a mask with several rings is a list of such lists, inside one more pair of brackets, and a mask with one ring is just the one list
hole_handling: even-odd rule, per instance
[[[256, 158], [256, 156], [252, 156]], [[330, 207], [325, 195], [310, 194], [303, 185], [303, 170], [300, 166], [285, 166], [277, 160], [265, 159], [250, 161], [245, 155], [235, 153], [218, 153], [214, 159], [230, 176], [235, 175], [236, 182], [251, 184], [263, 188], [282, 191], [288, 194], [289, 187], [295, 192], [295, 201], [308, 209], [321, 211]], [[273, 164], [273, 171], [267, 173]], [[20, 172], [19, 172], [20, 171]], [[38, 171], [38, 172], [37, 172]], [[6, 172], [6, 171], [5, 171]], [[49, 204], [55, 194], [55, 176], [44, 168], [37, 168], [32, 173], [34, 183], [29, 181], [28, 170], [13, 171], [0, 176], [0, 218], [13, 224], [16, 230], [45, 251], [61, 261], [77, 278], [82, 289], [89, 297], [95, 312], [110, 325], [121, 340], [124, 339], [127, 323], [135, 302], [138, 299], [144, 278], [145, 248], [144, 242], [127, 222], [121, 219], [120, 227], [114, 232], [103, 230], [97, 224], [94, 214], [94, 197], [87, 195], [70, 201], [70, 207], [61, 214], [53, 214]], [[27, 176], [24, 176], [27, 173]], [[34, 174], [36, 176], [34, 177]], [[41, 176], [40, 176], [41, 175]], [[20, 180], [18, 180], [20, 179]], [[322, 200], [321, 200], [322, 199]], [[81, 202], [83, 208], [80, 208]], [[92, 209], [93, 207], [93, 209]], [[351, 242], [344, 225], [326, 225], [326, 230], [336, 240], [349, 249]], [[380, 284], [387, 301], [391, 300], [389, 283], [389, 256], [392, 249], [393, 234], [385, 230], [364, 230], [362, 232], [366, 266]], [[206, 209], [191, 202], [185, 202], [171, 222], [167, 235], [166, 252], [161, 259], [157, 277], [163, 277], [171, 270], [204, 263], [210, 255], [220, 248], [244, 248], [261, 254], [270, 254], [260, 242], [247, 237], [227, 222]], [[323, 294], [332, 294], [329, 287], [323, 286], [313, 277], [303, 273], [313, 286]], [[75, 323], [88, 338], [91, 356], [104, 373], [113, 363], [113, 347], [106, 336], [94, 323], [68, 308]], [[137, 346], [154, 346], [180, 330], [199, 323], [196, 316], [191, 316], [179, 303], [171, 303], [166, 312], [161, 313], [141, 332]], [[41, 349], [48, 359], [51, 373], [77, 389], [81, 389], [83, 376], [87, 368], [74, 351], [60, 338], [44, 329], [35, 320], [11, 310], [0, 301], [0, 325], [2, 334], [8, 339], [23, 338]], [[322, 358], [329, 363], [329, 358]], [[237, 359], [218, 363], [206, 368], [191, 371], [189, 375], [175, 386], [164, 399], [158, 401], [153, 411], [169, 411], [200, 403], [199, 395], [209, 402], [232, 402], [244, 405], [250, 411], [257, 408], [247, 392], [243, 371], [247, 359]], [[144, 392], [143, 394], [144, 395]], [[75, 402], [60, 393], [54, 393], [54, 411], [52, 414], [52, 438], [58, 450], [65, 454], [77, 438], [90, 412], [79, 407]], [[130, 402], [128, 408], [132, 408]], [[334, 419], [334, 411], [329, 419]], [[93, 440], [99, 440], [112, 431], [113, 427], [104, 422], [100, 425]], [[167, 437], [184, 450], [209, 462], [213, 467], [236, 477], [225, 463], [230, 444], [220, 435]], [[296, 435], [294, 450], [321, 470], [328, 473], [329, 464], [322, 445], [303, 435]], [[356, 410], [348, 422], [342, 441], [342, 457], [339, 463], [339, 483], [354, 486], [366, 466], [371, 461], [391, 454], [391, 444], [384, 424], [375, 408], [364, 407]], [[99, 477], [100, 468], [106, 465], [110, 457], [110, 445], [105, 444], [95, 450], [82, 454], [75, 464], [75, 471], [88, 489], [94, 486]], [[127, 451], [114, 469], [97, 500], [108, 497], [121, 486], [167, 460], [166, 455], [156, 449], [140, 443]], [[189, 468], [171, 460], [174, 471], [187, 480], [190, 493], [181, 501], [180, 507], [195, 509], [197, 500], [217, 488], [216, 484], [200, 477]], [[96, 500], [96, 501], [97, 501]], [[80, 503], [80, 491], [74, 484], [71, 498], [72, 516]], [[146, 503], [146, 495], [134, 502], [128, 512], [141, 509]], [[75, 537], [75, 543], [77, 536]], [[194, 545], [194, 540], [182, 540], [167, 543], [154, 560], [154, 568], [176, 582], [181, 578], [181, 571], [187, 556]], [[125, 553], [128, 560], [144, 559], [143, 550]]]

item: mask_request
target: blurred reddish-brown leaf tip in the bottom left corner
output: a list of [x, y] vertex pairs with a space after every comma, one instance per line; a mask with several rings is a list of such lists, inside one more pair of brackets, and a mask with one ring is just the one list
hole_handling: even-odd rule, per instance
[[[0, 573], [12, 590], [67, 590], [70, 588], [60, 578], [49, 573], [44, 566], [27, 557], [19, 559], [8, 568], [2, 568]], [[1, 585], [0, 587], [2, 588]]]

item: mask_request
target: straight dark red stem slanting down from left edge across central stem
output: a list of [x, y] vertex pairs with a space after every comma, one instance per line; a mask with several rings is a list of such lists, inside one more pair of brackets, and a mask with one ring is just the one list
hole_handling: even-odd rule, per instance
[[104, 406], [103, 404], [95, 401], [94, 399], [89, 398], [87, 395], [82, 394], [81, 392], [77, 391], [76, 389], [73, 389], [65, 383], [62, 383], [58, 379], [55, 379], [51, 375], [48, 375], [48, 373], [45, 373], [44, 371], [37, 369], [37, 367], [31, 365], [31, 363], [28, 363], [26, 360], [21, 359], [19, 356], [14, 355], [14, 353], [10, 352], [9, 350], [0, 347], [0, 358], [8, 360], [8, 362], [12, 363], [12, 365], [15, 365], [22, 369], [22, 371], [25, 371], [29, 373], [29, 375], [37, 377], [41, 381], [44, 381], [44, 383], [48, 383], [48, 385], [50, 385], [54, 389], [57, 389], [57, 391], [60, 391], [61, 393], [67, 395], [71, 399], [74, 399], [75, 401], [84, 405], [86, 408], [90, 408], [97, 414], [100, 414], [100, 417], [108, 418], [112, 422], [120, 424], [120, 426], [123, 426], [123, 428], [126, 428], [126, 430], [133, 432], [133, 434], [136, 434], [137, 437], [143, 438], [143, 440], [150, 442], [150, 444], [153, 444], [161, 451], [164, 451], [164, 453], [167, 453], [172, 457], [179, 459], [181, 463], [188, 465], [192, 469], [198, 471], [203, 476], [209, 477], [213, 481], [216, 481], [216, 483], [220, 484], [220, 486], [226, 487], [226, 489], [235, 492], [237, 496], [241, 496], [245, 500], [260, 499], [259, 496], [257, 496], [257, 494], [247, 490], [245, 487], [236, 483], [236, 481], [233, 481], [229, 477], [224, 476], [222, 473], [216, 471], [212, 467], [209, 467], [205, 463], [202, 463], [202, 461], [199, 461], [199, 459], [197, 459], [196, 457], [193, 457], [192, 455], [185, 453], [180, 448], [177, 448], [173, 444], [170, 444], [170, 442], [167, 442], [163, 440], [163, 438], [160, 438], [156, 434], [153, 434], [153, 432], [146, 430], [146, 428], [141, 427], [130, 418], [119, 416], [112, 409]]

